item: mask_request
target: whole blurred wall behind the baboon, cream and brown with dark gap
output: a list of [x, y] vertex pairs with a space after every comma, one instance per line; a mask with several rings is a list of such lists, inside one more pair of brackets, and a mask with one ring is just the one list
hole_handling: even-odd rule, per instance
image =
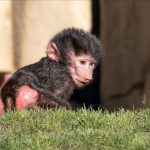
[[38, 61], [55, 33], [79, 27], [94, 33], [105, 49], [96, 86], [85, 88], [79, 99], [98, 99], [111, 110], [150, 107], [149, 8], [147, 0], [0, 1], [0, 71]]

